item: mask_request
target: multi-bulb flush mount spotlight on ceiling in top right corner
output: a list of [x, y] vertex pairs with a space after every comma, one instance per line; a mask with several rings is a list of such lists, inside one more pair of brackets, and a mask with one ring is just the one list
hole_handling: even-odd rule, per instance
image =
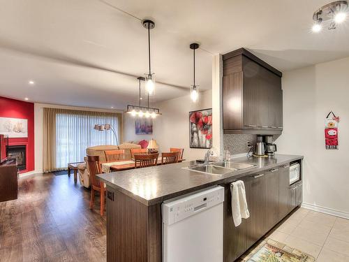
[[338, 24], [346, 21], [348, 16], [348, 1], [334, 1], [327, 3], [313, 13], [314, 24], [311, 30], [318, 33], [322, 24], [326, 24], [329, 30], [336, 29]]

